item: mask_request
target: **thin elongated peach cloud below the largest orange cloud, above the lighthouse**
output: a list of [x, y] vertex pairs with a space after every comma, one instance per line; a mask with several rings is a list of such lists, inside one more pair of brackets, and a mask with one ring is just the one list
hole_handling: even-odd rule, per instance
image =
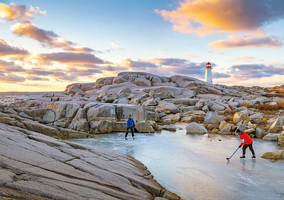
[[229, 36], [228, 40], [217, 40], [208, 44], [212, 48], [280, 48], [283, 43], [274, 36], [255, 38], [250, 36]]

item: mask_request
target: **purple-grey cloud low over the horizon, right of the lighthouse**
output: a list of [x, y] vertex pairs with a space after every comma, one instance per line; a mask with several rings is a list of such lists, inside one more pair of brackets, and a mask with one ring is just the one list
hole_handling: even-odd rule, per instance
[[230, 74], [234, 74], [237, 79], [256, 79], [262, 77], [273, 77], [274, 75], [284, 75], [284, 64], [263, 65], [233, 65], [230, 67]]

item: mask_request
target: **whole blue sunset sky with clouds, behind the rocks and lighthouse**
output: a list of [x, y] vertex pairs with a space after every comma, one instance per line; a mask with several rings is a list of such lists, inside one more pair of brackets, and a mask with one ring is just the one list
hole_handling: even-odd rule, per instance
[[283, 0], [0, 0], [0, 91], [119, 72], [284, 84]]

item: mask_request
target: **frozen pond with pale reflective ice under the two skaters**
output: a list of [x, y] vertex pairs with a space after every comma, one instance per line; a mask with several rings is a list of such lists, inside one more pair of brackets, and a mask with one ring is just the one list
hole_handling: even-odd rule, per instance
[[163, 187], [188, 199], [284, 199], [284, 162], [261, 158], [264, 152], [279, 149], [275, 142], [254, 138], [256, 160], [249, 149], [246, 160], [239, 159], [240, 149], [228, 162], [226, 157], [239, 146], [239, 138], [185, 133], [136, 133], [136, 140], [112, 133], [72, 141], [131, 155]]

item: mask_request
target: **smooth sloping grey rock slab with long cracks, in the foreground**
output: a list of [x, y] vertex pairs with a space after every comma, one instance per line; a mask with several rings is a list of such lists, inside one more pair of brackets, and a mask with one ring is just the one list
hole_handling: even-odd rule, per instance
[[180, 199], [133, 157], [0, 123], [0, 199]]

